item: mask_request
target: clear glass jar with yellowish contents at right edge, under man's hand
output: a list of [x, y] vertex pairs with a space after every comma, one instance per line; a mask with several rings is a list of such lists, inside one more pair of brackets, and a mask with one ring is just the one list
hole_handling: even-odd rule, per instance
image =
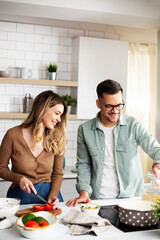
[[143, 200], [156, 202], [160, 198], [160, 176], [156, 177], [152, 171], [146, 173], [147, 183], [144, 184]]

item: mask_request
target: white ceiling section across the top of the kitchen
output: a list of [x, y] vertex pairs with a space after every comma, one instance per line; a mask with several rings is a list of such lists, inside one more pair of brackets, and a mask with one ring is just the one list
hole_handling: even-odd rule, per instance
[[4, 16], [159, 29], [160, 0], [0, 0]]

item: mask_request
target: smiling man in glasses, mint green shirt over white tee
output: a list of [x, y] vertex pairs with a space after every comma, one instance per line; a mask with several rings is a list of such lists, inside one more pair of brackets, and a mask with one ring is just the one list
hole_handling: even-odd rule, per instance
[[143, 173], [138, 152], [140, 146], [160, 168], [160, 144], [135, 118], [122, 114], [123, 89], [113, 80], [97, 86], [97, 117], [78, 129], [77, 191], [78, 198], [68, 206], [91, 199], [140, 196]]

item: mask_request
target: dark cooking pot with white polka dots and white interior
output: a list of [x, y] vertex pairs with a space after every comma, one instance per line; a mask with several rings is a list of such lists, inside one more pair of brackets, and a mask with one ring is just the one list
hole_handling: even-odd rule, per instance
[[132, 227], [149, 227], [156, 225], [158, 219], [151, 212], [154, 202], [128, 200], [118, 203], [119, 221]]

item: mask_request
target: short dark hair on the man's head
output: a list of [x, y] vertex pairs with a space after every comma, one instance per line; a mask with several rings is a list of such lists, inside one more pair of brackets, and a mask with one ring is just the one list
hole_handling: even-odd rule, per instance
[[104, 80], [97, 86], [98, 98], [103, 98], [103, 93], [116, 94], [119, 91], [123, 93], [121, 85], [118, 82], [111, 79]]

